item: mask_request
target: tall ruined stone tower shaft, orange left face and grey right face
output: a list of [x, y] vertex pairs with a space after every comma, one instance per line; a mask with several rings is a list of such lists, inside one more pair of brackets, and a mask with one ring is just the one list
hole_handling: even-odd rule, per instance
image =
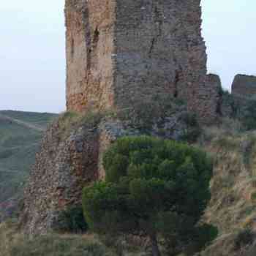
[[66, 0], [65, 14], [67, 110], [120, 110], [170, 94], [198, 116], [214, 111], [200, 0]]

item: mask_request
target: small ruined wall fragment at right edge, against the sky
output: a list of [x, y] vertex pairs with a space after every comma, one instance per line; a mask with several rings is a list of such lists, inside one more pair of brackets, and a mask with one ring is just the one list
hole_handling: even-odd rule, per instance
[[256, 76], [236, 75], [232, 84], [232, 94], [244, 97], [256, 95]]

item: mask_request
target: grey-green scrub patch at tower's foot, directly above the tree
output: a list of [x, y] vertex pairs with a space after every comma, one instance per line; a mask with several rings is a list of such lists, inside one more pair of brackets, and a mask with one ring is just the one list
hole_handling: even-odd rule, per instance
[[132, 107], [118, 110], [116, 116], [144, 135], [195, 142], [201, 132], [195, 113], [187, 111], [183, 100], [168, 94], [135, 101]]

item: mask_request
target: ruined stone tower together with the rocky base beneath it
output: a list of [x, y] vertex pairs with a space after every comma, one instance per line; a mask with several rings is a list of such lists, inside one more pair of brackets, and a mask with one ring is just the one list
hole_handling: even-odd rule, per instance
[[[200, 0], [66, 0], [65, 13], [68, 110], [122, 110], [167, 94], [214, 121], [219, 80], [206, 76]], [[176, 114], [164, 116], [167, 138]], [[48, 128], [24, 192], [20, 222], [29, 234], [55, 229], [61, 212], [80, 206], [83, 187], [105, 176], [110, 143], [141, 134], [118, 118], [65, 127], [65, 116]]]

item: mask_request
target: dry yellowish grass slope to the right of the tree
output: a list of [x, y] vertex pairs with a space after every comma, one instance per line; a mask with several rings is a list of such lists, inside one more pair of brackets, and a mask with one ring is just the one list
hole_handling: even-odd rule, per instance
[[219, 228], [219, 238], [203, 256], [244, 256], [245, 247], [234, 249], [236, 236], [244, 229], [256, 230], [256, 135], [234, 127], [208, 127], [199, 141], [214, 158], [205, 219]]

